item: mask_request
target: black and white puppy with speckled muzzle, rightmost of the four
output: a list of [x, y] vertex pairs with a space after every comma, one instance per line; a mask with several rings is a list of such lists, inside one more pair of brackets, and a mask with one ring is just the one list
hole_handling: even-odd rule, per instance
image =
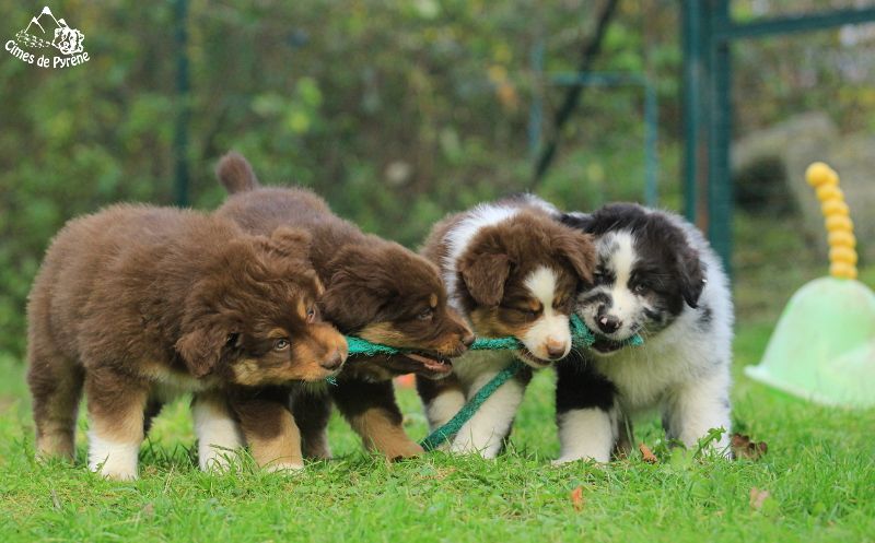
[[[595, 236], [594, 285], [575, 312], [597, 341], [557, 365], [558, 462], [607, 462], [629, 445], [628, 417], [660, 408], [672, 439], [711, 428], [728, 455], [733, 306], [728, 280], [684, 219], [617, 203], [559, 220]], [[643, 346], [620, 342], [639, 333]]]

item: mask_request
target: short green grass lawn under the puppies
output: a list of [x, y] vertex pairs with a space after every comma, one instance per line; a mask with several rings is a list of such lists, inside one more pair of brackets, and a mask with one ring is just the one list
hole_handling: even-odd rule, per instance
[[[0, 357], [0, 542], [875, 541], [875, 410], [817, 408], [742, 375], [758, 362], [775, 308], [805, 279], [778, 282], [756, 255], [739, 253], [742, 268], [750, 260], [762, 281], [751, 272], [736, 286], [747, 317], [735, 342], [733, 400], [736, 429], [769, 445], [760, 460], [668, 451], [654, 416], [635, 430], [655, 448], [656, 464], [635, 453], [607, 467], [551, 467], [553, 377], [541, 371], [514, 446], [497, 461], [432, 453], [389, 464], [362, 452], [336, 418], [331, 462], [291, 476], [245, 467], [203, 474], [186, 403], [177, 402], [143, 446], [141, 480], [112, 483], [85, 469], [84, 435], [75, 465], [34, 462], [23, 368]], [[875, 284], [875, 274], [864, 281]], [[771, 310], [757, 306], [763, 298], [773, 300]], [[423, 436], [415, 393], [401, 390], [400, 398], [409, 433]], [[768, 493], [758, 507], [751, 488]]]

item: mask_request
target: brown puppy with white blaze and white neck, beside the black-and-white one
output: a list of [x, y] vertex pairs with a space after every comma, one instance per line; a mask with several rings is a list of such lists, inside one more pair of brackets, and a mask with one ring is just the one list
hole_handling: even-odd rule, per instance
[[450, 446], [454, 452], [494, 458], [508, 437], [530, 368], [571, 351], [569, 315], [581, 282], [591, 282], [595, 253], [588, 234], [552, 220], [544, 205], [517, 197], [478, 205], [438, 223], [423, 256], [441, 268], [451, 304], [480, 337], [512, 335], [517, 351], [469, 352], [441, 381], [418, 379], [432, 429], [514, 358], [527, 368], [503, 385], [468, 421]]

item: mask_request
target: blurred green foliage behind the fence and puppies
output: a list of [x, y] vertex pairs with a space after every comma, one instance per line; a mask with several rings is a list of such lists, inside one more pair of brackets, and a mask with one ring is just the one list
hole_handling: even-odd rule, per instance
[[[184, 108], [197, 208], [221, 203], [212, 168], [229, 149], [264, 182], [312, 187], [364, 229], [411, 247], [447, 211], [512, 191], [567, 209], [641, 200], [643, 95], [634, 87], [586, 88], [551, 169], [532, 180], [533, 96], [544, 97], [550, 133], [565, 90], [547, 75], [574, 70], [603, 3], [190, 0], [183, 50], [173, 1], [51, 3], [84, 33], [91, 60], [45, 70], [0, 56], [0, 351], [23, 353], [30, 283], [68, 219], [118, 201], [174, 203]], [[858, 3], [738, 0], [733, 9], [745, 20]], [[42, 5], [0, 3], [3, 40]], [[875, 128], [875, 37], [845, 38], [821, 32], [739, 49], [736, 132], [812, 108], [842, 129]], [[539, 43], [542, 73], [532, 64]], [[176, 91], [179, 55], [188, 96]], [[679, 2], [620, 1], [595, 69], [655, 85], [661, 204], [679, 209]]]

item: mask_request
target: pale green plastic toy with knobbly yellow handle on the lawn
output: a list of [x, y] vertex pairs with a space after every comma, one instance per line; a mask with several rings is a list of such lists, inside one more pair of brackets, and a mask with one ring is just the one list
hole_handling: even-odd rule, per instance
[[856, 238], [839, 176], [821, 162], [808, 166], [829, 243], [829, 274], [788, 303], [759, 366], [745, 374], [827, 405], [875, 405], [875, 294], [856, 281]]

